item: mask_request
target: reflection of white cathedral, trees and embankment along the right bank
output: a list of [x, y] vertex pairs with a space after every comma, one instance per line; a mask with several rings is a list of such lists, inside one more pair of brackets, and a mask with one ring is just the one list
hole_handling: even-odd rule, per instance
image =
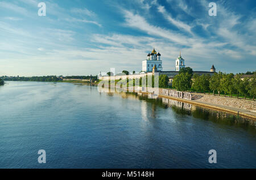
[[[148, 95], [144, 93], [108, 92], [108, 96], [113, 96], [114, 94], [120, 95], [122, 98], [137, 99], [143, 101], [141, 105], [141, 113], [142, 118], [146, 121], [148, 120], [148, 118], [154, 119], [157, 117], [157, 108], [171, 108], [176, 113], [175, 115], [177, 118], [180, 117], [180, 115], [189, 115], [193, 118], [201, 119], [203, 121], [210, 121], [225, 126], [241, 127], [247, 131], [256, 132], [255, 120], [250, 118], [244, 118], [236, 114], [226, 113], [214, 109], [202, 108], [197, 105], [171, 100], [169, 98], [148, 98]], [[150, 102], [151, 105], [147, 106], [146, 102]]]

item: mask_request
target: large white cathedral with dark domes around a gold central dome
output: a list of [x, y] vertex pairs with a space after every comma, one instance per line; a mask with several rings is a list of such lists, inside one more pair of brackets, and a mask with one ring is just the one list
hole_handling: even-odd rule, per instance
[[163, 70], [161, 54], [159, 52], [156, 54], [155, 48], [151, 53], [147, 54], [147, 59], [142, 61], [142, 71], [152, 72], [154, 66], [156, 66], [158, 71]]

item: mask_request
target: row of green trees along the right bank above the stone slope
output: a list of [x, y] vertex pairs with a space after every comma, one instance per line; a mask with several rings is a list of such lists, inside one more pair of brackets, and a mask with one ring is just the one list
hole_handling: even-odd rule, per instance
[[[251, 74], [247, 72], [247, 74]], [[222, 72], [215, 72], [213, 76], [209, 74], [205, 75], [193, 75], [193, 71], [190, 67], [181, 68], [178, 75], [174, 77], [172, 82], [172, 87], [176, 88], [178, 91], [196, 91], [196, 92], [217, 92], [224, 93], [224, 96], [233, 94], [255, 97], [256, 95], [256, 71], [253, 76], [249, 78], [241, 79], [242, 74], [237, 74], [234, 76], [233, 73], [226, 74]]]

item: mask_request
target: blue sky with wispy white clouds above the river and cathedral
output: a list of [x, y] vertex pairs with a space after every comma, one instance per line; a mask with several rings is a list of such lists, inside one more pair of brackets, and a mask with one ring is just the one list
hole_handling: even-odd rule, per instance
[[163, 71], [180, 50], [194, 71], [255, 71], [256, 1], [0, 1], [0, 76], [139, 72], [153, 48]]

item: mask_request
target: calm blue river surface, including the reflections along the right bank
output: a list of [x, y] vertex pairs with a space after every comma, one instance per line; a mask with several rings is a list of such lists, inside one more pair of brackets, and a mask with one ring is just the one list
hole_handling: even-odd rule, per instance
[[256, 168], [251, 119], [88, 85], [6, 83], [0, 168]]

